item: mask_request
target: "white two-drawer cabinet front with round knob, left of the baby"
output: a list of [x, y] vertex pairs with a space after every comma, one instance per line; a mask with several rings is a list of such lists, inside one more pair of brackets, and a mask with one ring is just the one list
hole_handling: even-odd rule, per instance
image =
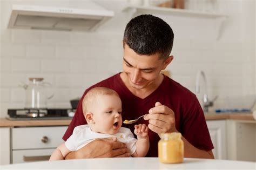
[[68, 126], [11, 128], [11, 163], [49, 160]]

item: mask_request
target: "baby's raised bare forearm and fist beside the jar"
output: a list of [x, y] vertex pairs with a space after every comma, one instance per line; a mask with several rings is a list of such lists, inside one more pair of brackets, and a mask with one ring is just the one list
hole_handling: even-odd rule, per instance
[[132, 157], [145, 157], [149, 151], [149, 127], [145, 124], [135, 125], [134, 133], [137, 135], [138, 140], [136, 142], [136, 151], [132, 154]]

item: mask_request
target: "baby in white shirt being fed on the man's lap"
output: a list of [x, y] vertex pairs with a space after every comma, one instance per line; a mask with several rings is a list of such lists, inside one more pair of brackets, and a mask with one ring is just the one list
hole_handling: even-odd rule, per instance
[[97, 138], [116, 137], [126, 144], [132, 157], [145, 157], [149, 151], [149, 128], [145, 124], [134, 126], [138, 139], [129, 128], [121, 127], [122, 101], [116, 91], [106, 87], [91, 89], [83, 99], [83, 113], [87, 125], [75, 127], [69, 139], [53, 151], [50, 160], [62, 160]]

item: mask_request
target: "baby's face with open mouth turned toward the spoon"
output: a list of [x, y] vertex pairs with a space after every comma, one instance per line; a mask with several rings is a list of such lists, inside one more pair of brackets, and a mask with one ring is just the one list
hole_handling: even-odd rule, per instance
[[100, 95], [92, 104], [92, 130], [98, 133], [116, 134], [122, 126], [122, 101], [115, 95]]

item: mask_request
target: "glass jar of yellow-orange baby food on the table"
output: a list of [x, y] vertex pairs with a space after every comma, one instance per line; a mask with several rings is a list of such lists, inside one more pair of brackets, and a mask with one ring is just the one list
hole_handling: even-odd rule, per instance
[[161, 133], [158, 142], [158, 158], [162, 163], [178, 164], [183, 162], [184, 142], [181, 140], [181, 134]]

